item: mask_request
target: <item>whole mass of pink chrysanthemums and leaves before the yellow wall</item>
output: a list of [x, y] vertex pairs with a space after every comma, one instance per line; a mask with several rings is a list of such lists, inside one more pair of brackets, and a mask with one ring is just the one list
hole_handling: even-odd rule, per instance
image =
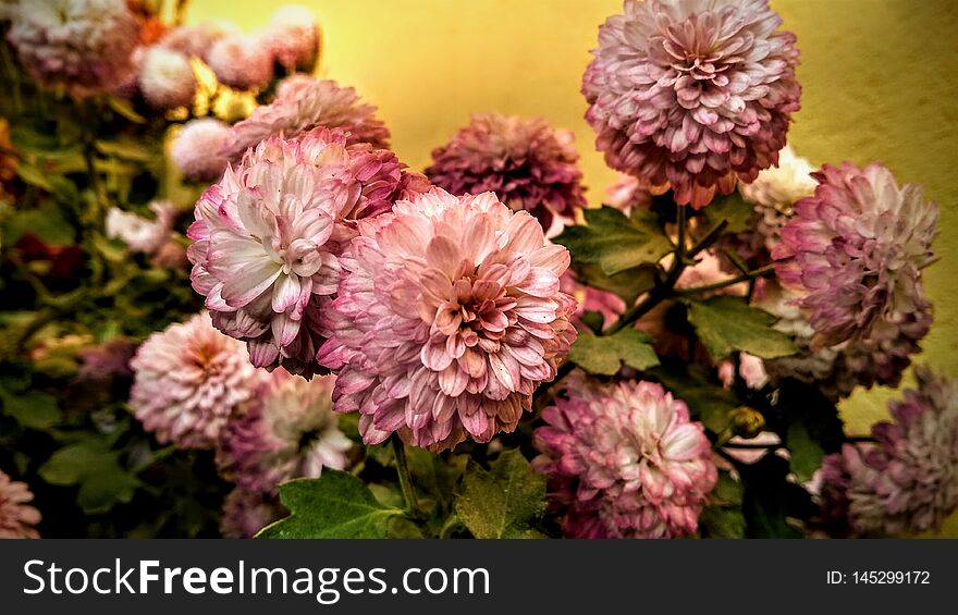
[[[937, 530], [958, 381], [868, 438], [929, 332], [938, 208], [786, 145], [766, 0], [625, 0], [586, 119], [477, 114], [422, 172], [321, 32], [0, 3], [0, 537]], [[569, 93], [570, 96], [574, 93]]]

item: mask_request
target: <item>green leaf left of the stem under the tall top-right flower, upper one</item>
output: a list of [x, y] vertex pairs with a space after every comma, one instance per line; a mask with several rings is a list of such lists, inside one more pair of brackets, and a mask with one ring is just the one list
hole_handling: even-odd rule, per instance
[[599, 265], [613, 275], [643, 263], [655, 263], [672, 250], [672, 242], [656, 224], [626, 218], [613, 208], [585, 210], [587, 226], [568, 226], [555, 238], [573, 260]]

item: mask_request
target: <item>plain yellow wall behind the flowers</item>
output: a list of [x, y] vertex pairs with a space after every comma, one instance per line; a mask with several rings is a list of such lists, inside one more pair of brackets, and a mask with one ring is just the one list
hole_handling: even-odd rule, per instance
[[[281, 1], [193, 0], [189, 21], [253, 30]], [[575, 131], [590, 200], [614, 180], [592, 147], [579, 94], [588, 51], [619, 0], [300, 0], [324, 35], [320, 73], [380, 108], [415, 169], [472, 112], [541, 115]], [[772, 0], [798, 35], [802, 110], [789, 142], [813, 163], [886, 163], [942, 206], [928, 270], [935, 324], [921, 360], [958, 376], [958, 2]], [[886, 415], [887, 390], [843, 405], [855, 433]]]

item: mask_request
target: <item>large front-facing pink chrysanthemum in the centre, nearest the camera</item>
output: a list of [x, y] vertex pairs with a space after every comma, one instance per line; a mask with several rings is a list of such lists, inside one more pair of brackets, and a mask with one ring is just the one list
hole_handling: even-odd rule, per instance
[[364, 221], [341, 261], [330, 341], [335, 410], [364, 442], [397, 432], [432, 451], [513, 431], [575, 340], [560, 292], [568, 251], [492, 193], [432, 188]]

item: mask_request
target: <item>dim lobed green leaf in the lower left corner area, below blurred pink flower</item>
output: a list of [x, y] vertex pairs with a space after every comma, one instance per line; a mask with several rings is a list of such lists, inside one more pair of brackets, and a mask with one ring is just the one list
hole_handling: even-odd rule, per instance
[[98, 442], [79, 442], [60, 448], [39, 469], [40, 478], [61, 487], [79, 485], [76, 502], [88, 515], [128, 503], [139, 481], [120, 464], [120, 452]]

